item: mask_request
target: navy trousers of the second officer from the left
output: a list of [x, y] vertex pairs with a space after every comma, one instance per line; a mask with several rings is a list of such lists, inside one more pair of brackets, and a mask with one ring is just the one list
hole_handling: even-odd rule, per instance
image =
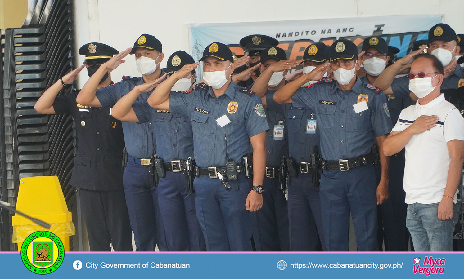
[[[130, 159], [130, 157], [129, 157]], [[122, 184], [129, 211], [130, 227], [134, 232], [135, 251], [168, 251], [158, 205], [158, 192], [152, 187], [148, 165], [127, 162]]]

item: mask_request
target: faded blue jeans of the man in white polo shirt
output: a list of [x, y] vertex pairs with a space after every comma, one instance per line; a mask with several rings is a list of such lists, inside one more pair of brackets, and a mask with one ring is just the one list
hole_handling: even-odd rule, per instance
[[412, 203], [407, 206], [406, 227], [415, 251], [453, 250], [453, 218], [438, 220], [438, 204]]

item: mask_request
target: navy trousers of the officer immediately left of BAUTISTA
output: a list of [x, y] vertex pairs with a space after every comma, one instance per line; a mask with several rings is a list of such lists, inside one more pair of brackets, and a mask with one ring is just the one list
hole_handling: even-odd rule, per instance
[[326, 251], [322, 227], [319, 187], [313, 187], [311, 173], [298, 173], [289, 185], [288, 212], [291, 251]]

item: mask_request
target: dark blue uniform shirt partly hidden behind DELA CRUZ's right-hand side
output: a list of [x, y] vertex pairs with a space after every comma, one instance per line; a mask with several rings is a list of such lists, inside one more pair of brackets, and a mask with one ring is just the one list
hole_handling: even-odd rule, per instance
[[[266, 120], [269, 125], [269, 130], [266, 133], [266, 166], [278, 167], [282, 160], [282, 157], [288, 155], [288, 125], [285, 117], [287, 115], [289, 104], [278, 104], [272, 98], [274, 92], [277, 90], [266, 91]], [[284, 126], [284, 139], [274, 139], [274, 125], [279, 125], [279, 121], [283, 121], [280, 125]]]

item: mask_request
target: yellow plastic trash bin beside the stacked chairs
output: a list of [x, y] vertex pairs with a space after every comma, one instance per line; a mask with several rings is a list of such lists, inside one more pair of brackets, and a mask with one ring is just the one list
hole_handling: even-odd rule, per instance
[[18, 251], [21, 251], [28, 235], [45, 230], [57, 235], [63, 242], [64, 251], [69, 252], [69, 236], [76, 233], [76, 228], [71, 221], [71, 212], [64, 201], [57, 176], [22, 178], [19, 182], [16, 210], [52, 225], [46, 229], [15, 214], [12, 217], [12, 242], [18, 243]]

